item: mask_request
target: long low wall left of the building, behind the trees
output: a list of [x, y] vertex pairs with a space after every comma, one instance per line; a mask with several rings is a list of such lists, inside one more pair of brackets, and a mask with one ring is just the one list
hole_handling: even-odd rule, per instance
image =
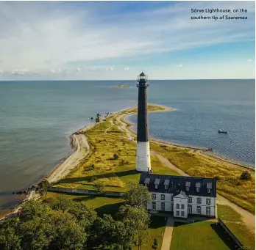
[[[60, 193], [68, 193], [68, 194], [88, 194], [88, 195], [99, 195], [99, 192], [96, 190], [90, 189], [78, 189], [78, 188], [49, 188], [49, 191], [60, 192]], [[121, 197], [124, 195], [123, 192], [111, 192], [111, 191], [104, 191], [102, 196], [115, 196]]]

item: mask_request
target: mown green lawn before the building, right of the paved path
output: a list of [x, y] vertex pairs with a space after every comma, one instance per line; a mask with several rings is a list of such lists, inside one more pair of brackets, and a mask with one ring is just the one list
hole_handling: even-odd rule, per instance
[[[226, 240], [225, 240], [226, 239]], [[224, 230], [211, 221], [191, 224], [174, 223], [171, 250], [229, 250], [234, 249]]]

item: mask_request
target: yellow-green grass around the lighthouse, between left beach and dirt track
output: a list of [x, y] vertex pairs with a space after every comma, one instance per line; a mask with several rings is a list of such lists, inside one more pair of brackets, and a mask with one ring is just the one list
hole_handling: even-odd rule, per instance
[[[149, 109], [157, 110], [157, 107], [149, 106]], [[126, 133], [112, 125], [110, 119], [113, 116], [85, 132], [91, 148], [90, 156], [82, 160], [77, 168], [55, 186], [93, 189], [96, 184], [101, 183], [104, 191], [123, 192], [129, 190], [131, 183], [138, 183], [141, 174], [135, 171], [136, 144], [124, 138]], [[114, 159], [114, 154], [118, 155], [118, 159]], [[154, 173], [177, 175], [167, 166], [163, 166], [155, 155], [151, 155], [151, 159]]]

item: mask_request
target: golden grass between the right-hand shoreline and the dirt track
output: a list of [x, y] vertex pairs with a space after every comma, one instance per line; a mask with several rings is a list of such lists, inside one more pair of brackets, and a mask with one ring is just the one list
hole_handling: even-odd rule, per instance
[[[192, 152], [185, 147], [160, 147], [160, 144], [152, 142], [152, 150], [159, 152], [164, 157], [191, 176], [196, 177], [215, 177], [220, 180], [217, 182], [217, 191], [221, 196], [255, 213], [255, 172], [243, 169], [226, 161], [216, 160], [208, 156]], [[241, 173], [248, 170], [252, 174], [252, 180], [240, 180]], [[246, 192], [244, 192], [246, 190]]]

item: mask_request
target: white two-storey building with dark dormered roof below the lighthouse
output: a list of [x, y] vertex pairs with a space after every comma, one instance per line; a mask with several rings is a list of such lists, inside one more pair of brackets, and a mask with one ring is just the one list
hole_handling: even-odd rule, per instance
[[[140, 184], [152, 195], [147, 209], [189, 215], [216, 217], [216, 179], [142, 173]], [[154, 212], [155, 211], [155, 212]]]

